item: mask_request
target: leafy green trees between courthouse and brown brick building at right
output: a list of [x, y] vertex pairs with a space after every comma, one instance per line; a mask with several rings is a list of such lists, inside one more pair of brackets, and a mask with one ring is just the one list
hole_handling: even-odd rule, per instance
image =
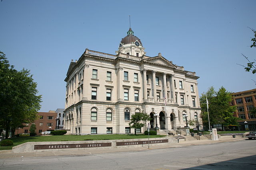
[[234, 116], [236, 106], [230, 106], [232, 94], [222, 86], [218, 92], [215, 92], [214, 88], [210, 87], [200, 98], [200, 105], [202, 107], [201, 117], [204, 126], [209, 127], [206, 97], [209, 103], [208, 111], [211, 127], [213, 127], [214, 124], [222, 124], [222, 127], [238, 125], [237, 121], [240, 120], [240, 118]]

